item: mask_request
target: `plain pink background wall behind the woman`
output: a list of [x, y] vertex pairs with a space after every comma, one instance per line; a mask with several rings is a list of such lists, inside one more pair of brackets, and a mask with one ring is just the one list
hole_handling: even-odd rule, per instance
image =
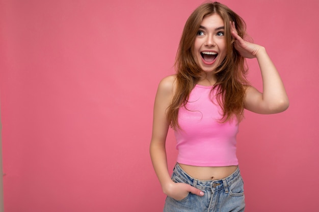
[[[319, 211], [319, 2], [221, 2], [267, 48], [290, 98], [284, 113], [246, 112], [240, 127], [246, 211]], [[153, 100], [201, 3], [0, 1], [6, 212], [162, 211], [148, 153]], [[170, 132], [170, 169], [174, 145]]]

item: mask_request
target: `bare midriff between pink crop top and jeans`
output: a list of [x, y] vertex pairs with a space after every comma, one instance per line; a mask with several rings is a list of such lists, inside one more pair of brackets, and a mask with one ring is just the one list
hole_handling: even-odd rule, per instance
[[185, 164], [180, 164], [182, 168], [188, 175], [195, 179], [200, 180], [218, 180], [223, 179], [234, 173], [238, 166], [221, 166], [221, 167], [202, 167], [202, 166], [190, 166]]

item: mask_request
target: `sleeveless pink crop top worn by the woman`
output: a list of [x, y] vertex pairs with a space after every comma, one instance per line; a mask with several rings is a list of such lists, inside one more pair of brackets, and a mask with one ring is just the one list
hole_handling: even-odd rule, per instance
[[[236, 135], [238, 124], [219, 123], [221, 107], [216, 102], [216, 90], [196, 85], [185, 107], [179, 108], [175, 131], [177, 162], [192, 166], [238, 165]], [[214, 103], [213, 103], [214, 101]]]

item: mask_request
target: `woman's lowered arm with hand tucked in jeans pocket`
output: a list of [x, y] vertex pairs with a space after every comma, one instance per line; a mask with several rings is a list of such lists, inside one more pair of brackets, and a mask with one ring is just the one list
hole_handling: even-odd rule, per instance
[[181, 200], [185, 198], [189, 192], [200, 196], [203, 196], [203, 192], [188, 184], [174, 183], [167, 167], [165, 142], [169, 123], [166, 118], [166, 110], [173, 98], [175, 78], [174, 75], [164, 78], [157, 88], [154, 103], [150, 156], [163, 192], [176, 200]]

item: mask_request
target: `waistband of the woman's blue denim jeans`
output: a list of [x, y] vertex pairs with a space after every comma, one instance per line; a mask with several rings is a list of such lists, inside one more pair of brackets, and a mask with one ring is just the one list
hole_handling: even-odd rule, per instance
[[239, 167], [236, 169], [234, 173], [229, 175], [226, 178], [219, 180], [199, 180], [188, 175], [182, 168], [176, 163], [174, 167], [174, 174], [176, 174], [181, 180], [185, 183], [200, 189], [200, 190], [220, 190], [224, 189], [225, 192], [228, 192], [228, 186], [233, 184], [239, 178], [242, 178]]

